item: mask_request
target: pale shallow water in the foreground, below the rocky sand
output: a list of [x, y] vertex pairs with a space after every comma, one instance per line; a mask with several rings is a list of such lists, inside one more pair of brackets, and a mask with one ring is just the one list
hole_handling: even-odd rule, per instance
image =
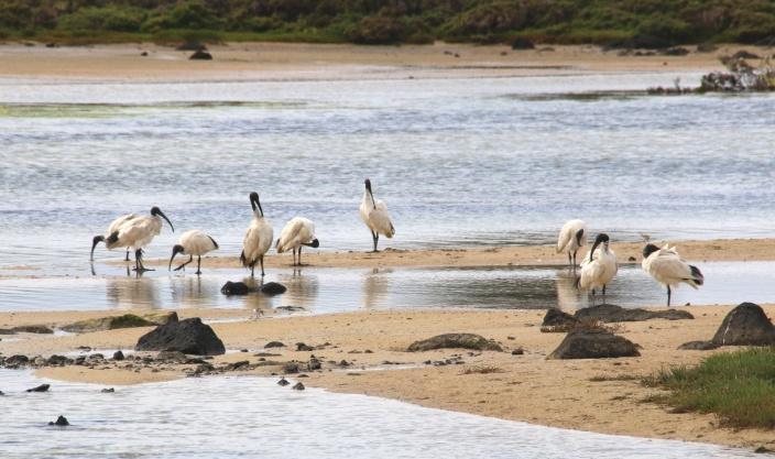
[[[42, 382], [47, 393], [25, 393]], [[251, 376], [117, 387], [0, 370], [4, 459], [745, 458], [752, 452], [533, 426]], [[48, 420], [65, 415], [66, 428]]]

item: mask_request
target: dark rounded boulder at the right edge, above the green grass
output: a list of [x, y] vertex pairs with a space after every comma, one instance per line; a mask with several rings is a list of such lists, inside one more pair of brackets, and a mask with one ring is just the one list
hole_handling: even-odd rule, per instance
[[719, 346], [773, 346], [775, 326], [761, 306], [742, 303], [729, 312], [711, 341]]

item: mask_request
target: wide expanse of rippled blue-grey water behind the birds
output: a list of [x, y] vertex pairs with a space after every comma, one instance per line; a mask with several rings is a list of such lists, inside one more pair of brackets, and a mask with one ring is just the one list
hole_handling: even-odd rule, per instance
[[324, 250], [364, 250], [365, 176], [396, 248], [550, 242], [571, 217], [616, 239], [772, 234], [775, 97], [561, 96], [674, 76], [0, 80], [0, 266], [86, 272], [90, 238], [152, 205], [237, 254], [253, 189], [276, 232], [304, 215]]

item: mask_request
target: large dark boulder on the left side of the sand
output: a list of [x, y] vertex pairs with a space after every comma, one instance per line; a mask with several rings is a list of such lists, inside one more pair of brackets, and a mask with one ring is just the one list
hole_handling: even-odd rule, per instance
[[219, 356], [226, 352], [223, 341], [198, 317], [159, 326], [140, 337], [134, 349], [179, 351], [197, 356]]

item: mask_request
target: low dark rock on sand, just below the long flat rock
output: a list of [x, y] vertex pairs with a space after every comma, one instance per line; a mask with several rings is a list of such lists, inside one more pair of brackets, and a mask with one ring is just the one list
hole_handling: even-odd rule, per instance
[[607, 359], [638, 357], [636, 345], [610, 331], [577, 329], [569, 332], [549, 359]]

